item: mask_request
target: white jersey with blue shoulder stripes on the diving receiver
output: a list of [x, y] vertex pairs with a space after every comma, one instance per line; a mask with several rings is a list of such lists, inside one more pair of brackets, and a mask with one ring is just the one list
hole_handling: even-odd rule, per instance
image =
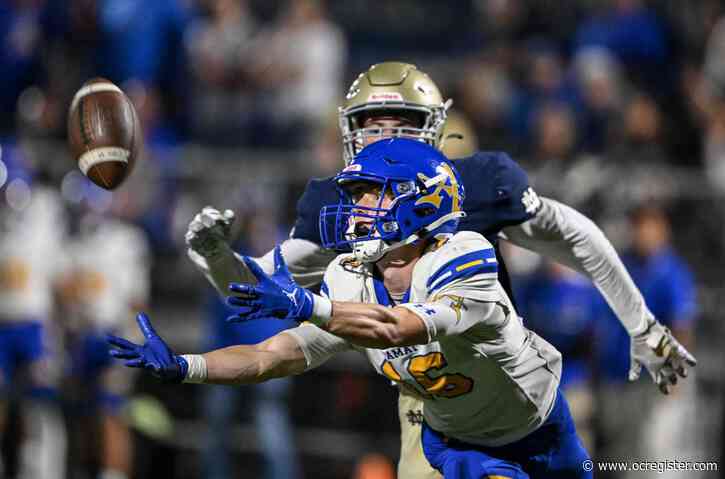
[[[323, 291], [335, 301], [390, 305], [369, 265], [338, 257]], [[548, 417], [561, 376], [561, 354], [526, 329], [497, 280], [493, 246], [459, 232], [421, 257], [403, 304], [425, 323], [425, 345], [385, 350], [355, 347], [305, 324], [292, 334], [308, 368], [358, 349], [383, 376], [424, 400], [427, 423], [472, 444], [500, 446], [523, 438]]]

